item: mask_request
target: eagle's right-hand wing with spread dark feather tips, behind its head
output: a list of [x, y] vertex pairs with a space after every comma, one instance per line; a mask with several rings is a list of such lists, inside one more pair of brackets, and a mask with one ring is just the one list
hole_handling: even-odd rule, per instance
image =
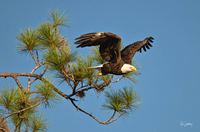
[[125, 63], [131, 64], [131, 60], [137, 51], [141, 53], [142, 49], [146, 51], [147, 49], [150, 49], [150, 47], [152, 47], [151, 43], [153, 42], [153, 39], [153, 37], [147, 37], [142, 41], [137, 41], [133, 44], [126, 46], [121, 51], [122, 60]]

